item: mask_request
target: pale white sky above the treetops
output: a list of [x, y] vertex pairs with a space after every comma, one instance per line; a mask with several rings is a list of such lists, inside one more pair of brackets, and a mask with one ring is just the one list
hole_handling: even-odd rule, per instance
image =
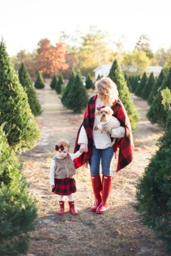
[[113, 41], [124, 38], [127, 51], [142, 34], [153, 52], [171, 46], [170, 0], [0, 0], [0, 7], [0, 36], [10, 56], [32, 52], [42, 38], [55, 45], [60, 31], [73, 34], [79, 27], [86, 34], [91, 25]]

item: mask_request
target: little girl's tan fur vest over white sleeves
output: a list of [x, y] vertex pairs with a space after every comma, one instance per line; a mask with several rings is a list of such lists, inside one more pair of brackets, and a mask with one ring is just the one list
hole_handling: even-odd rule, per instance
[[54, 156], [53, 160], [55, 161], [56, 179], [66, 179], [76, 173], [74, 163], [69, 154], [63, 159], [58, 159], [56, 156]]

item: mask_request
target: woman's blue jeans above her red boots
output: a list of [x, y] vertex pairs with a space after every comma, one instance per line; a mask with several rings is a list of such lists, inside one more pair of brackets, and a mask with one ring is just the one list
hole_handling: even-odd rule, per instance
[[100, 159], [103, 175], [112, 175], [111, 172], [111, 161], [114, 155], [113, 146], [105, 148], [105, 150], [98, 150], [93, 146], [91, 164], [90, 164], [90, 173], [91, 175], [98, 175], [100, 170]]

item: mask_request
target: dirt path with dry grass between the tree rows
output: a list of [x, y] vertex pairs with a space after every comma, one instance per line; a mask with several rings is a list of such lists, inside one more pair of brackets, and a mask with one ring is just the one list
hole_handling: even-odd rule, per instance
[[156, 150], [156, 140], [161, 136], [160, 128], [145, 117], [146, 102], [134, 98], [141, 118], [134, 133], [134, 161], [115, 175], [108, 212], [97, 215], [90, 211], [94, 201], [90, 171], [79, 169], [74, 196], [79, 216], [67, 212], [67, 202], [65, 215], [58, 216], [57, 196], [51, 193], [49, 185], [53, 148], [59, 138], [65, 138], [70, 141], [73, 152], [83, 115], [63, 108], [48, 85], [37, 93], [44, 109], [36, 118], [41, 138], [37, 146], [23, 156], [24, 173], [38, 209], [36, 229], [30, 233], [28, 255], [166, 255], [161, 241], [156, 241], [151, 230], [140, 224], [140, 217], [131, 206], [135, 202], [134, 184], [143, 174]]

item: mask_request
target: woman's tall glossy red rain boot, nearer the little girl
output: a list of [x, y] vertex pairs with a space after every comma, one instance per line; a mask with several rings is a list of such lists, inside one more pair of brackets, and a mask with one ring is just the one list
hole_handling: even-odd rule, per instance
[[97, 207], [101, 203], [101, 194], [100, 193], [102, 190], [102, 185], [101, 185], [100, 175], [91, 175], [91, 179], [92, 179], [92, 187], [93, 187], [95, 202], [94, 202], [94, 205], [90, 208], [90, 210], [96, 211]]

